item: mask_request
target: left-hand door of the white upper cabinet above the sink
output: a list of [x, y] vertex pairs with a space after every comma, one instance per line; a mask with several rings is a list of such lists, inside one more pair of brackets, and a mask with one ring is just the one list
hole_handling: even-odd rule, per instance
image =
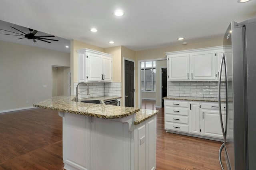
[[102, 80], [102, 55], [87, 53], [87, 81]]

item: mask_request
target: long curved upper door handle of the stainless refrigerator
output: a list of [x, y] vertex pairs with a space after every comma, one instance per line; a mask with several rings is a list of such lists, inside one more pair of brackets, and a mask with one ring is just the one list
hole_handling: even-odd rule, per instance
[[[224, 130], [223, 126], [223, 121], [222, 121], [222, 112], [221, 112], [221, 103], [220, 103], [220, 84], [221, 84], [221, 74], [222, 74], [222, 66], [223, 63], [225, 64], [225, 72], [226, 72], [226, 58], [225, 58], [225, 53], [223, 51], [222, 58], [221, 58], [221, 63], [220, 63], [220, 75], [219, 75], [219, 81], [218, 81], [218, 103], [219, 103], [219, 113], [220, 113], [220, 125], [221, 125], [221, 130], [224, 138], [224, 142], [226, 142], [226, 129]], [[226, 73], [225, 73], [226, 75]], [[227, 75], [225, 76], [226, 78], [226, 89], [227, 89]], [[227, 91], [226, 91], [227, 93]], [[226, 108], [227, 108], [227, 95], [226, 95]], [[227, 109], [226, 109], [227, 110]], [[227, 116], [226, 116], [227, 117]], [[226, 123], [227, 124], [227, 123]]]

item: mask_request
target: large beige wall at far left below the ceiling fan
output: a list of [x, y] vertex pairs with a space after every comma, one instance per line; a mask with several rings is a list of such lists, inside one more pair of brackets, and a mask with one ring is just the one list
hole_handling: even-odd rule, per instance
[[0, 111], [50, 98], [52, 65], [70, 67], [70, 53], [0, 41]]

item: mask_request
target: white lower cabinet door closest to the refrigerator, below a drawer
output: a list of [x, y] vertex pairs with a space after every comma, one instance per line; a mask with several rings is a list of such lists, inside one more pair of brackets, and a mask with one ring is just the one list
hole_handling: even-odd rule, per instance
[[[203, 136], [209, 136], [214, 138], [222, 138], [222, 129], [220, 125], [220, 115], [217, 110], [201, 110], [201, 134]], [[222, 115], [222, 119], [226, 119], [225, 115]], [[225, 125], [224, 125], [225, 127]]]

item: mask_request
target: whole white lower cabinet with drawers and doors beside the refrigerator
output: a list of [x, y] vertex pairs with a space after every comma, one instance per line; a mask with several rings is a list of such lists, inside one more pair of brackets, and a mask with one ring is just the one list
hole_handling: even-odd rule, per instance
[[[224, 104], [222, 105], [224, 109]], [[222, 119], [226, 116], [222, 110]], [[225, 127], [225, 123], [224, 127]], [[170, 132], [223, 140], [218, 103], [164, 100], [164, 128]]]

